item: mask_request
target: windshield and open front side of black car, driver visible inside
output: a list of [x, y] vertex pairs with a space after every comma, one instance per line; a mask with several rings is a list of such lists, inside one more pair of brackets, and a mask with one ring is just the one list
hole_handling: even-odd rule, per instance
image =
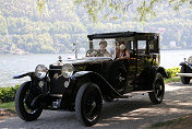
[[[131, 49], [132, 39], [129, 38], [103, 38], [83, 42], [84, 47], [77, 48], [79, 57], [117, 57], [118, 46], [124, 44], [125, 48]], [[81, 55], [81, 56], [80, 56]]]

